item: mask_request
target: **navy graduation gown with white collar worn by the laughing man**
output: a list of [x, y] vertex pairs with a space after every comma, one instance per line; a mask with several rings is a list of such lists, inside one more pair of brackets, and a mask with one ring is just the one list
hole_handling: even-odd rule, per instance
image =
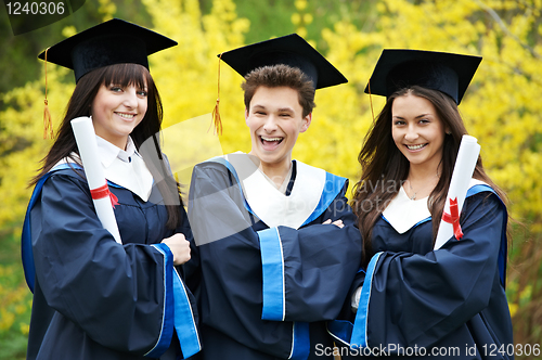
[[[185, 268], [203, 359], [314, 359], [317, 344], [333, 346], [325, 321], [347, 297], [361, 239], [347, 179], [293, 166], [287, 195], [246, 154], [194, 168], [189, 218], [197, 246]], [[327, 219], [345, 227], [322, 224]]]

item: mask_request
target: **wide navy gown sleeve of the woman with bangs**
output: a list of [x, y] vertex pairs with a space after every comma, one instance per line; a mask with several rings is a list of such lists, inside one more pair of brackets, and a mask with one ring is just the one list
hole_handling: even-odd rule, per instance
[[145, 355], [168, 336], [167, 246], [117, 244], [101, 226], [86, 182], [70, 176], [46, 181], [31, 219], [37, 282], [51, 308], [118, 351]]

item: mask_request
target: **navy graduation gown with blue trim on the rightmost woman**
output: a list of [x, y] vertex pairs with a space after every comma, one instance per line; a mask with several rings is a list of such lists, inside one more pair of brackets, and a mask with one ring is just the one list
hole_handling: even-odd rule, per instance
[[[409, 201], [402, 189], [397, 197]], [[344, 322], [331, 325], [350, 346], [343, 358], [374, 350], [388, 358], [514, 359], [504, 204], [473, 180], [460, 221], [464, 236], [434, 250], [426, 202], [414, 203], [402, 216], [386, 209], [375, 223], [352, 333]]]

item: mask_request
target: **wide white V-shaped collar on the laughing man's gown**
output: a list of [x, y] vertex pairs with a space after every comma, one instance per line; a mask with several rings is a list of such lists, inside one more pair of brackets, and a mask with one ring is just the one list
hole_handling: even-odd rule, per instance
[[320, 202], [325, 171], [296, 160], [296, 180], [286, 196], [266, 179], [248, 156], [225, 155], [225, 158], [237, 172], [250, 209], [270, 228], [284, 226], [299, 229]]

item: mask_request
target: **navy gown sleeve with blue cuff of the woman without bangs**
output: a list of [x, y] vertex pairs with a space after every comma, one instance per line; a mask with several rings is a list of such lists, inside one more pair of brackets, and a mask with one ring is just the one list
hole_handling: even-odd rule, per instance
[[[431, 347], [486, 309], [495, 286], [503, 293], [498, 256], [505, 214], [496, 195], [480, 193], [465, 202], [461, 241], [451, 239], [425, 255], [377, 253], [367, 267], [352, 344]], [[375, 230], [373, 237], [380, 235]]]

